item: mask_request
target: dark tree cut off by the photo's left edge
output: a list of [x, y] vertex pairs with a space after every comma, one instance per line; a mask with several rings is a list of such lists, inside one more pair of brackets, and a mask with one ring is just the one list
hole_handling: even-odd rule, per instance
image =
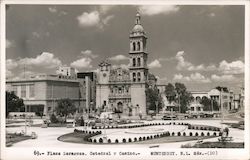
[[23, 99], [19, 98], [14, 92], [6, 92], [6, 114], [7, 117], [9, 112], [24, 112]]

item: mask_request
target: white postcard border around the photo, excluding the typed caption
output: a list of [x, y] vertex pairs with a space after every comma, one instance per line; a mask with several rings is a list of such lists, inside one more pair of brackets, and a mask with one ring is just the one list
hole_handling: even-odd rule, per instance
[[[5, 28], [5, 5], [6, 4], [25, 4], [25, 5], [39, 5], [39, 4], [55, 4], [55, 5], [99, 5], [99, 4], [111, 4], [111, 5], [244, 5], [245, 6], [245, 148], [244, 149], [140, 149], [140, 148], [126, 148], [127, 151], [138, 151], [141, 153], [140, 157], [127, 157], [127, 156], [112, 156], [112, 157], [105, 157], [105, 156], [94, 156], [94, 157], [81, 157], [81, 156], [74, 156], [72, 159], [249, 159], [249, 82], [250, 82], [250, 74], [249, 74], [249, 61], [250, 61], [250, 50], [249, 50], [249, 28], [250, 28], [250, 12], [249, 12], [249, 0], [239, 0], [239, 1], [203, 1], [203, 0], [196, 0], [196, 1], [163, 1], [163, 0], [0, 0], [1, 3], [1, 159], [69, 159], [69, 157], [59, 156], [59, 157], [39, 157], [34, 156], [34, 150], [39, 151], [46, 151], [46, 150], [53, 150], [53, 151], [91, 151], [93, 148], [17, 148], [17, 147], [5, 147], [5, 60], [6, 60], [6, 53], [5, 53], [5, 39], [6, 39], [6, 28]], [[95, 151], [117, 151], [119, 152], [121, 149], [119, 148], [105, 148], [105, 149], [96, 149]], [[210, 157], [166, 157], [166, 156], [150, 156], [148, 155], [150, 151], [197, 151], [197, 150], [219, 150], [218, 156], [210, 156]], [[71, 158], [71, 157], [70, 157]]]

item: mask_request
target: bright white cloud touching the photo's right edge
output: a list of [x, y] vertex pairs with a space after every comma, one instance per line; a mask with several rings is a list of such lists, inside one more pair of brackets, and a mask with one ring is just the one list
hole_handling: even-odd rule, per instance
[[240, 60], [231, 63], [223, 60], [219, 64], [219, 71], [223, 74], [242, 74], [244, 73], [244, 63]]

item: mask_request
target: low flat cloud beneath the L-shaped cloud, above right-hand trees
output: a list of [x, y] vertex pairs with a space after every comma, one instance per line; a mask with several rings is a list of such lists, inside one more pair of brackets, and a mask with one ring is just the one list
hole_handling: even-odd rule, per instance
[[182, 74], [175, 74], [174, 81], [184, 81], [184, 82], [196, 82], [196, 83], [210, 83], [211, 80], [206, 78], [204, 75], [196, 72], [190, 74], [190, 76], [183, 76]]

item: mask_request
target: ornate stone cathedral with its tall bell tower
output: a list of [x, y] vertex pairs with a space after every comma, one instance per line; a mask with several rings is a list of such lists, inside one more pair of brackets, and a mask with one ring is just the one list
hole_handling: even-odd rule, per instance
[[129, 44], [128, 69], [114, 68], [107, 60], [99, 64], [96, 107], [128, 116], [146, 115], [146, 89], [155, 84], [156, 78], [148, 71], [147, 37], [139, 13], [129, 35]]

